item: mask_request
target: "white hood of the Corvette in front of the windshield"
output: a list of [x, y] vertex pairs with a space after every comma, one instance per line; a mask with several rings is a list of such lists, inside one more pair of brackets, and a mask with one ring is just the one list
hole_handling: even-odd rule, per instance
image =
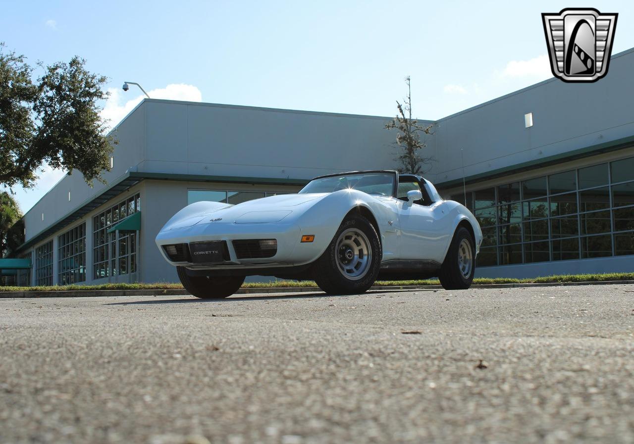
[[[227, 205], [213, 211], [203, 211], [196, 215], [174, 221], [169, 229], [178, 229], [200, 224], [267, 224], [294, 219], [307, 208], [317, 203], [328, 193], [319, 194], [279, 194], [250, 200], [237, 205]], [[292, 215], [292, 216], [291, 216]]]

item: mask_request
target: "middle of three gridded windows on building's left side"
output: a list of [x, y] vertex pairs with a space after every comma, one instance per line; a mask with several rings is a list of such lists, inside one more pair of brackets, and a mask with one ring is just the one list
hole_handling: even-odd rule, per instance
[[57, 283], [86, 281], [86, 222], [61, 234], [57, 239]]

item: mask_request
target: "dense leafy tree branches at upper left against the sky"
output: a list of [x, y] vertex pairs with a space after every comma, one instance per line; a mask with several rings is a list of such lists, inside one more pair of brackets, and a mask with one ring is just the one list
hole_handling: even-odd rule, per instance
[[[4, 51], [0, 43], [0, 185], [32, 187], [44, 163], [70, 174], [74, 169], [87, 184], [110, 168], [112, 144], [97, 102], [108, 93], [106, 77], [90, 73], [85, 60], [36, 67], [24, 56]], [[105, 182], [104, 182], [105, 183]]]

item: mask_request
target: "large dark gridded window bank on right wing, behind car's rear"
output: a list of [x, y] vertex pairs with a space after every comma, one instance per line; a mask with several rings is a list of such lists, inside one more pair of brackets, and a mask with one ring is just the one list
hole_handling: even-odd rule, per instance
[[634, 157], [476, 190], [467, 207], [481, 267], [634, 255]]

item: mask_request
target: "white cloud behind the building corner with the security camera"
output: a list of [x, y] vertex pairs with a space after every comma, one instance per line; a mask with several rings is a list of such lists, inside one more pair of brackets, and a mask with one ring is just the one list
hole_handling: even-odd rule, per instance
[[[130, 91], [133, 91], [133, 89], [137, 89], [137, 91], [140, 92], [136, 85], [130, 86]], [[108, 122], [108, 128], [119, 124], [119, 122], [126, 117], [127, 113], [132, 111], [134, 106], [138, 105], [139, 102], [145, 98], [143, 93], [141, 93], [126, 101], [126, 95], [130, 94], [129, 91], [126, 93], [120, 88], [108, 88], [108, 92], [110, 92], [110, 96], [101, 111], [101, 117], [110, 120], [110, 122]], [[148, 91], [148, 94], [153, 99], [184, 100], [190, 102], [202, 101], [200, 89], [193, 85], [170, 84], [164, 88], [152, 89], [152, 91]]]

